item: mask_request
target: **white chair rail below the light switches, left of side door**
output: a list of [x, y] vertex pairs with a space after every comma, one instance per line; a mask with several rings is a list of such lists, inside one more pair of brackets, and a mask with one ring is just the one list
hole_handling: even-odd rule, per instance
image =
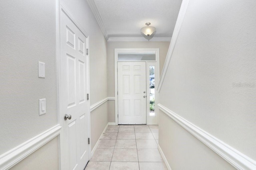
[[29, 139], [21, 145], [11, 149], [4, 154], [0, 155], [0, 169], [7, 170], [32, 154], [34, 151], [54, 139], [60, 134], [61, 126], [55, 125], [54, 127], [44, 131], [43, 133]]

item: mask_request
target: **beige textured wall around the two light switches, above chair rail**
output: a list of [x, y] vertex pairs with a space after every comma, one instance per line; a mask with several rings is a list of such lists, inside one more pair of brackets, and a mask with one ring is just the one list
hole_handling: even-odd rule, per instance
[[[58, 124], [55, 10], [52, 0], [1, 1], [0, 154]], [[46, 114], [39, 116], [42, 98]]]

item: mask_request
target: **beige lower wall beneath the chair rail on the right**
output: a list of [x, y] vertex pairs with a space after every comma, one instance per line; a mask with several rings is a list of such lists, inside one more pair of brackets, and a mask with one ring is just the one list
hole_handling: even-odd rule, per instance
[[161, 110], [159, 112], [159, 145], [172, 170], [236, 169]]

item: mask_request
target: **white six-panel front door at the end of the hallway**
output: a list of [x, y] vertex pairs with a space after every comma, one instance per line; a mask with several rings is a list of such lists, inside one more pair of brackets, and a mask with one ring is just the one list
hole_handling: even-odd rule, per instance
[[118, 124], [146, 124], [146, 62], [118, 62]]

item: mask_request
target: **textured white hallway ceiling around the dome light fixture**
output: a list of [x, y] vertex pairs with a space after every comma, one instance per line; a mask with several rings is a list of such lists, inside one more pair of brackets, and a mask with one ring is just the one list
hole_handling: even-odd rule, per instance
[[182, 0], [87, 0], [104, 36], [144, 38], [146, 22], [156, 27], [154, 37], [170, 38]]

